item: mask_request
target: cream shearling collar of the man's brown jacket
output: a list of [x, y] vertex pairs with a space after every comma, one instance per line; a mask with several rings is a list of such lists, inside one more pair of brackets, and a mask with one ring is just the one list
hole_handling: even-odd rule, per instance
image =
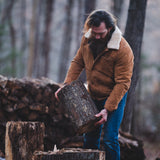
[[[91, 28], [88, 30], [88, 32], [85, 33], [84, 36], [85, 38], [89, 38], [91, 36]], [[116, 29], [113, 32], [112, 37], [107, 44], [107, 48], [108, 49], [119, 49], [121, 37], [122, 37], [122, 33], [120, 29], [116, 26]]]

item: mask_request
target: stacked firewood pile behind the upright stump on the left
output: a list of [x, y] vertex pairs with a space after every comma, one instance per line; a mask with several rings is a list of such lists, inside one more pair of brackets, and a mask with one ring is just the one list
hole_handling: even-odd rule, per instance
[[[15, 79], [0, 76], [0, 150], [4, 153], [4, 136], [8, 121], [40, 121], [45, 124], [45, 149], [73, 133], [68, 118], [54, 93], [59, 85], [47, 78]], [[59, 145], [58, 145], [59, 147]]]

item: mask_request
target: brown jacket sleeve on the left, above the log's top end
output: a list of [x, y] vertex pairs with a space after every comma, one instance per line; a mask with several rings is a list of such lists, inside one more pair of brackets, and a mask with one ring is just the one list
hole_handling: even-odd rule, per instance
[[73, 58], [70, 64], [64, 83], [69, 84], [79, 77], [81, 71], [84, 68], [84, 61], [82, 54], [83, 54], [83, 39], [81, 41], [81, 46], [76, 53], [76, 56]]

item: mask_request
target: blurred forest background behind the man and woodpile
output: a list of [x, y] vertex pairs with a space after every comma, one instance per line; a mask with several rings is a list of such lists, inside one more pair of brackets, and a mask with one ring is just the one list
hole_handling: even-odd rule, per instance
[[[85, 8], [110, 11], [124, 33], [128, 6], [129, 0], [0, 0], [0, 74], [63, 82], [80, 45]], [[132, 131], [152, 142], [160, 140], [159, 8], [159, 0], [148, 0]]]

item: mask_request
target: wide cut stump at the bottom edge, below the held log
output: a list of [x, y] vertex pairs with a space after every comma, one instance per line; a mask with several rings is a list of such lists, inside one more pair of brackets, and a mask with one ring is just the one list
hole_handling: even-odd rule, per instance
[[105, 152], [91, 149], [66, 148], [56, 152], [35, 152], [32, 160], [105, 160]]

